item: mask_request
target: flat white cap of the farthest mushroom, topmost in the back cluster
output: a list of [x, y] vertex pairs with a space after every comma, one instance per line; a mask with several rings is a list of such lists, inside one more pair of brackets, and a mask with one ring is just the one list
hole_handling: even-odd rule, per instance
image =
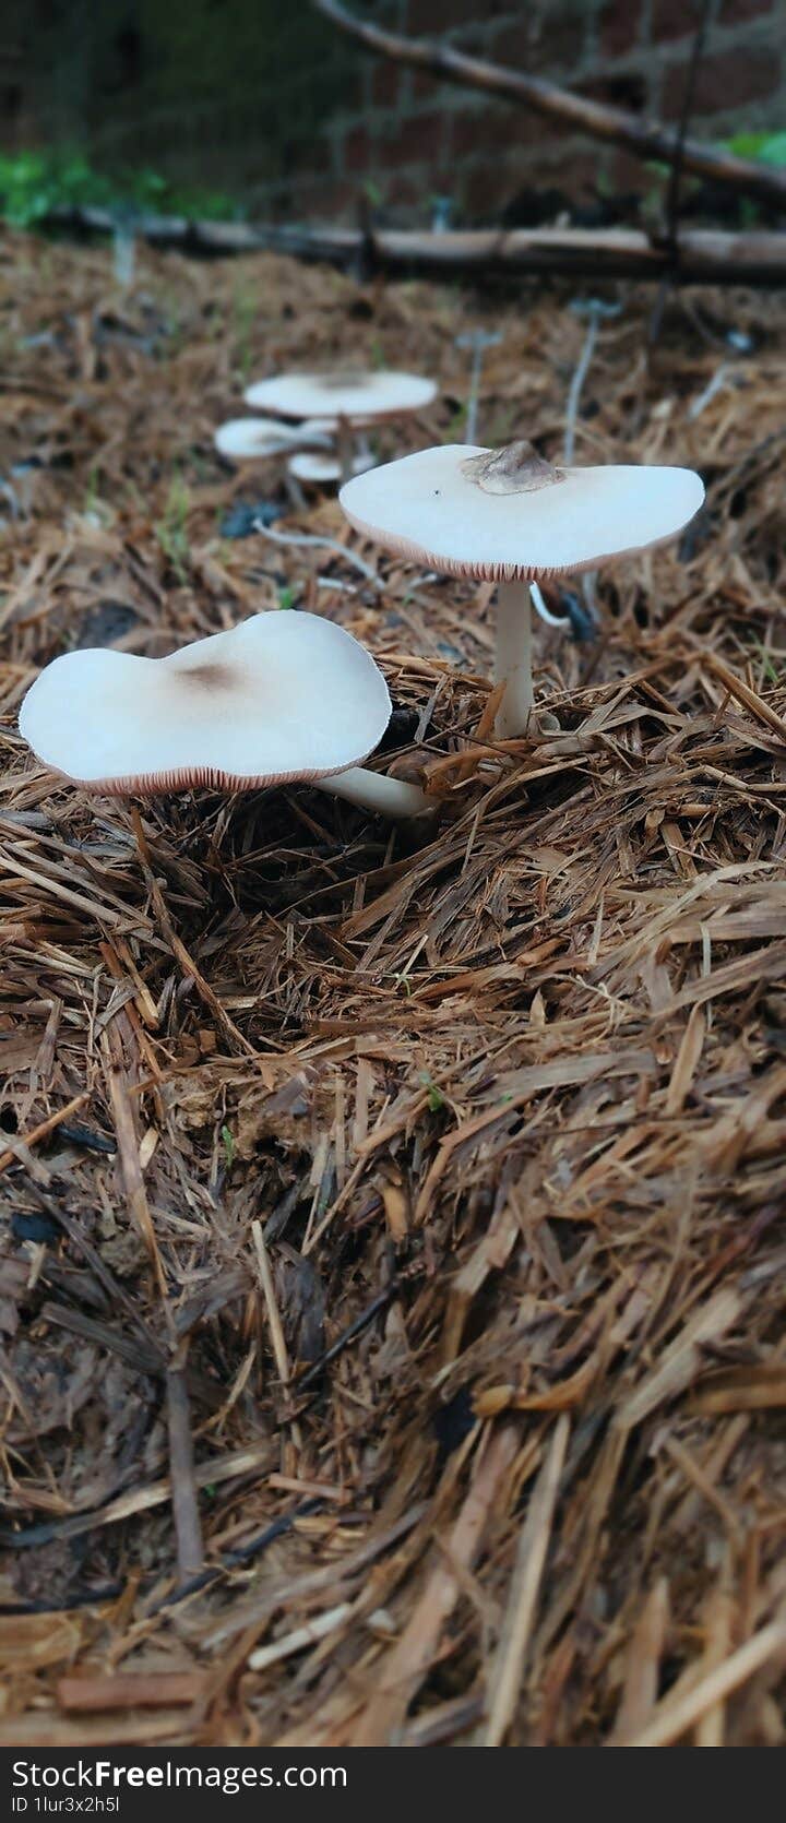
[[248, 386], [246, 403], [253, 410], [281, 412], [283, 417], [398, 417], [418, 412], [436, 397], [436, 383], [419, 374], [277, 374]]

